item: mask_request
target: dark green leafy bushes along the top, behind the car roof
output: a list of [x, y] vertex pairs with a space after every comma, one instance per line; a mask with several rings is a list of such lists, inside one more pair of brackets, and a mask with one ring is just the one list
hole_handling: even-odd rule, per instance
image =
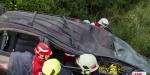
[[[114, 9], [122, 9], [122, 12], [128, 11], [126, 8], [132, 7], [132, 4], [136, 4], [139, 1], [140, 0], [2, 0], [1, 2], [4, 6], [7, 6], [7, 3], [9, 3], [9, 6], [6, 7], [7, 10], [15, 8], [17, 8], [17, 10], [36, 10], [50, 14], [60, 14], [97, 21], [100, 17], [109, 18], [113, 16], [116, 13]], [[14, 5], [16, 5], [16, 7]]]

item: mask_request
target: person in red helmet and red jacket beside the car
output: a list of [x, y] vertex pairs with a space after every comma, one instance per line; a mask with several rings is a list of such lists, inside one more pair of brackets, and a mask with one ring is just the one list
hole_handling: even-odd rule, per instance
[[34, 49], [36, 55], [32, 58], [32, 74], [42, 75], [42, 65], [52, 54], [51, 48], [46, 43], [38, 43]]

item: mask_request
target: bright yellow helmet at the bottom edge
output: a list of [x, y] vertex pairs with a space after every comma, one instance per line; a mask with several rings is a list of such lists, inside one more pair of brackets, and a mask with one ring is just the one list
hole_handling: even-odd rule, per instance
[[45, 75], [57, 75], [61, 70], [61, 63], [53, 58], [44, 62], [42, 72]]

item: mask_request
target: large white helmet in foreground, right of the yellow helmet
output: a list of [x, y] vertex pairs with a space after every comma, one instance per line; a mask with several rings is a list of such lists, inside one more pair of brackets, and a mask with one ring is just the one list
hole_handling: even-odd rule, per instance
[[77, 64], [81, 67], [82, 71], [96, 71], [98, 64], [96, 57], [92, 54], [82, 54], [76, 59]]

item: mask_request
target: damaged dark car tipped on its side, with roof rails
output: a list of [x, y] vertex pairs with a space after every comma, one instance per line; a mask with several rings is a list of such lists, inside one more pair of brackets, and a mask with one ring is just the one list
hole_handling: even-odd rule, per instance
[[[48, 43], [53, 49], [51, 57], [60, 61], [63, 52], [75, 56], [95, 55], [100, 75], [150, 73], [149, 59], [109, 31], [75, 22], [73, 18], [37, 11], [6, 11], [0, 16], [0, 73], [30, 75], [30, 60], [39, 42]], [[63, 67], [81, 73], [79, 67]]]

